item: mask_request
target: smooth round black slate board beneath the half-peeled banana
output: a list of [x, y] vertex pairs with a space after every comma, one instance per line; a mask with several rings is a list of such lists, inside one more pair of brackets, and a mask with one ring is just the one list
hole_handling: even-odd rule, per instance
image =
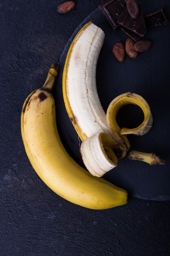
[[[144, 1], [145, 2], [145, 1]], [[158, 5], [156, 5], [156, 3]], [[166, 7], [170, 15], [170, 4], [167, 1], [155, 1], [144, 4], [144, 14], [161, 6]], [[145, 7], [147, 6], [147, 9]], [[62, 97], [62, 71], [69, 46], [79, 29], [88, 21], [103, 29], [104, 45], [97, 63], [97, 91], [102, 106], [106, 111], [109, 103], [124, 92], [140, 94], [150, 105], [153, 115], [153, 127], [148, 134], [138, 137], [129, 135], [131, 148], [142, 152], [154, 152], [166, 160], [164, 166], [150, 166], [144, 162], [124, 159], [106, 175], [104, 179], [126, 189], [129, 195], [150, 200], [170, 200], [170, 137], [169, 95], [170, 95], [170, 25], [150, 29], [144, 39], [152, 41], [152, 47], [141, 53], [138, 58], [126, 56], [119, 63], [112, 54], [112, 47], [118, 41], [125, 43], [128, 37], [123, 31], [114, 32], [101, 11], [97, 8], [77, 27], [68, 41], [60, 59], [60, 70], [54, 97], [57, 102], [57, 126], [68, 153], [83, 165], [79, 153], [80, 141], [64, 107]], [[127, 113], [124, 112], [124, 113]], [[141, 118], [139, 110], [134, 110], [135, 118]], [[136, 121], [133, 117], [132, 127]], [[127, 120], [126, 120], [127, 121]], [[139, 120], [137, 120], [139, 123]], [[124, 124], [124, 123], [123, 123]], [[140, 123], [139, 123], [140, 124]]]

